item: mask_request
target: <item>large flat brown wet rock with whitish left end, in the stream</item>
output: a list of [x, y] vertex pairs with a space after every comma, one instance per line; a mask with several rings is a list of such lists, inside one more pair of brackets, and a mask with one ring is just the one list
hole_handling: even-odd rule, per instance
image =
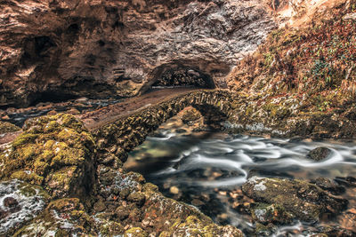
[[242, 186], [242, 191], [255, 201], [279, 204], [300, 220], [311, 222], [318, 221], [323, 213], [340, 213], [348, 203], [297, 179], [253, 177]]

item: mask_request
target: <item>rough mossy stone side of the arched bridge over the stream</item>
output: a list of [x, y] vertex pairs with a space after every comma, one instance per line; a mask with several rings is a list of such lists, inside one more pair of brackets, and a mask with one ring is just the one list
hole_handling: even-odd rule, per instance
[[128, 152], [141, 145], [150, 132], [185, 107], [195, 107], [207, 124], [219, 123], [231, 116], [231, 101], [228, 91], [193, 91], [120, 118], [94, 130], [93, 135], [102, 157], [114, 155], [125, 162]]

